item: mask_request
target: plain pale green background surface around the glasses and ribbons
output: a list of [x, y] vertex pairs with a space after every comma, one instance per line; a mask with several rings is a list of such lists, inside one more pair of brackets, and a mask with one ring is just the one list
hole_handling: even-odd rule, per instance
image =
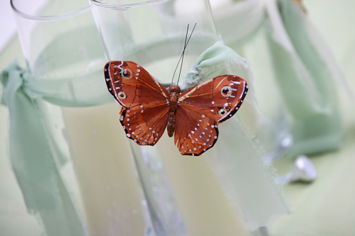
[[[355, 90], [355, 2], [306, 0], [308, 14], [333, 47], [335, 57]], [[2, 70], [21, 55], [15, 38], [0, 54]], [[340, 150], [312, 156], [319, 178], [313, 184], [285, 187], [293, 214], [275, 221], [271, 235], [355, 235], [355, 104], [340, 88], [345, 139]], [[8, 112], [0, 106], [0, 130], [8, 127]], [[6, 155], [6, 134], [0, 133], [0, 235], [38, 235], [36, 219], [27, 214], [22, 194]], [[293, 161], [276, 164], [287, 173]]]

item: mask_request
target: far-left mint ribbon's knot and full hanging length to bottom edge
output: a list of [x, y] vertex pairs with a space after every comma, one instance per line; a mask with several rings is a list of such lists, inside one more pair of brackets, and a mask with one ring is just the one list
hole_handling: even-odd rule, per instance
[[40, 214], [52, 224], [62, 224], [63, 232], [84, 235], [82, 223], [56, 167], [36, 100], [24, 93], [26, 74], [16, 61], [0, 74], [1, 103], [10, 113], [10, 162], [24, 202], [29, 213]]

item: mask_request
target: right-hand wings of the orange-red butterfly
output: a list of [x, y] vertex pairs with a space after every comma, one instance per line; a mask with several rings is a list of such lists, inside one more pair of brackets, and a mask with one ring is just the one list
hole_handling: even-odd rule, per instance
[[231, 118], [243, 103], [248, 84], [221, 75], [179, 95], [174, 139], [182, 155], [201, 155], [218, 139], [218, 124]]

